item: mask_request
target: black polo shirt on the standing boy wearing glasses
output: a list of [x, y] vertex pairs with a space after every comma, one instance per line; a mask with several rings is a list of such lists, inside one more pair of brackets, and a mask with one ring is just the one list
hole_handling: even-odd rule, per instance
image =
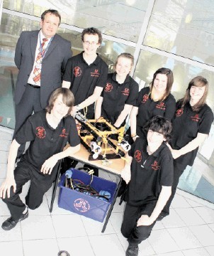
[[[74, 94], [75, 105], [93, 95], [96, 86], [104, 87], [108, 75], [108, 65], [97, 54], [94, 63], [88, 65], [83, 53], [69, 58], [63, 80], [71, 82], [70, 90]], [[94, 113], [94, 103], [88, 106], [88, 112]]]

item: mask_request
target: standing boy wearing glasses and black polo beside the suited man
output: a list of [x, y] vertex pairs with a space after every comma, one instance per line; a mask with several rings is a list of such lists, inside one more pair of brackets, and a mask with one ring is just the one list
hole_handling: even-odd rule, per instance
[[81, 33], [84, 51], [67, 61], [62, 87], [69, 88], [75, 97], [73, 112], [87, 107], [86, 117], [94, 118], [94, 102], [106, 85], [108, 65], [96, 50], [101, 46], [102, 35], [96, 28], [85, 28]]

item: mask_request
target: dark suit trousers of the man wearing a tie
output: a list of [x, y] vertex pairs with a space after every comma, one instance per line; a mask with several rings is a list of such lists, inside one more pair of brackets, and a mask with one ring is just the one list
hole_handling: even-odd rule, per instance
[[[21, 98], [21, 102], [16, 105], [15, 117], [16, 124], [13, 133], [13, 139], [16, 136], [16, 132], [21, 126], [26, 122], [28, 117], [30, 117], [33, 112], [38, 112], [43, 110], [40, 103], [40, 88], [34, 88], [30, 85], [26, 85], [26, 90]], [[21, 156], [23, 151], [25, 150], [25, 144], [19, 146], [18, 148], [18, 157]]]

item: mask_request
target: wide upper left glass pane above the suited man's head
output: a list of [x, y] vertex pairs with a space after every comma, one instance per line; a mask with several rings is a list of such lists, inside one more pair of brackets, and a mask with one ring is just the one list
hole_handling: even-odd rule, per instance
[[[50, 6], [62, 16], [62, 23], [89, 28], [102, 33], [137, 42], [149, 0], [57, 0], [4, 1], [4, 8], [40, 17]], [[24, 4], [23, 4], [24, 3]]]

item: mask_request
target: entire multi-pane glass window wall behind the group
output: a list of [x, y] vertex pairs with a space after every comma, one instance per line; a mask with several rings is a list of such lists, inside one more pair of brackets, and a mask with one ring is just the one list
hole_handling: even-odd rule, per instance
[[[54, 4], [52, 4], [54, 3]], [[57, 9], [62, 23], [78, 28], [94, 26], [102, 33], [127, 41], [137, 42], [149, 0], [4, 0], [4, 8], [40, 17], [46, 9]], [[181, 55], [208, 65], [214, 64], [213, 16], [214, 1], [210, 0], [156, 0], [144, 42], [145, 46]], [[205, 11], [202, 11], [205, 10]], [[14, 64], [16, 42], [22, 31], [39, 29], [38, 21], [3, 14], [0, 26], [0, 125], [14, 128], [13, 93], [18, 69]], [[82, 51], [81, 33], [59, 28], [63, 38], [72, 42], [73, 55]], [[115, 41], [103, 40], [98, 53], [108, 64], [109, 72], [120, 53], [134, 54], [135, 48]], [[150, 84], [154, 72], [161, 67], [174, 73], [172, 94], [183, 97], [188, 82], [203, 75], [210, 83], [208, 105], [214, 110], [214, 73], [196, 65], [141, 50], [135, 69], [135, 80], [140, 87]], [[198, 150], [192, 167], [181, 176], [179, 188], [214, 203], [214, 124], [208, 139]]]

